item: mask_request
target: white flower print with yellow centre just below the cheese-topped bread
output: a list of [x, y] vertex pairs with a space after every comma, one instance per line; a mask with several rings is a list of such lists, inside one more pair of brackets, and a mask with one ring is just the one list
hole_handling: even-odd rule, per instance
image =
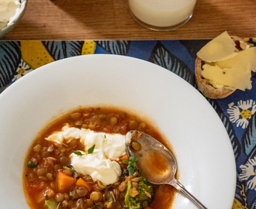
[[227, 109], [227, 113], [230, 115], [230, 121], [246, 128], [251, 118], [251, 115], [254, 115], [256, 111], [256, 103], [253, 100], [247, 101], [238, 101], [237, 105], [234, 105], [232, 102]]

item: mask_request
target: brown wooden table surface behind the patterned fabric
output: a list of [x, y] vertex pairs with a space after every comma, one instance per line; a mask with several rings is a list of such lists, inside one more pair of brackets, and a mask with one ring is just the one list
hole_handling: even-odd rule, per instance
[[198, 0], [192, 19], [168, 32], [140, 26], [128, 0], [28, 1], [21, 22], [4, 39], [212, 39], [225, 30], [256, 37], [255, 0]]

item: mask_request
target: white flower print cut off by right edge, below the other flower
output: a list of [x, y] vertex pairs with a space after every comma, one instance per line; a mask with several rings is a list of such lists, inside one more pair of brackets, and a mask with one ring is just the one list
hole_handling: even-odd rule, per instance
[[[256, 156], [253, 159], [248, 159], [245, 165], [241, 165], [242, 173], [239, 174], [241, 180], [247, 181], [247, 188], [256, 190]], [[250, 180], [249, 180], [250, 179]]]

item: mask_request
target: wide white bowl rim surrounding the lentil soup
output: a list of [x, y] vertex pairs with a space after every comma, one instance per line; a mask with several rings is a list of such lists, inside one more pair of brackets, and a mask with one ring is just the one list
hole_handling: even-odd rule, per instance
[[[86, 55], [27, 74], [0, 94], [0, 202], [29, 208], [22, 166], [37, 132], [78, 105], [115, 105], [143, 112], [170, 140], [179, 180], [209, 209], [230, 209], [236, 168], [226, 129], [190, 84], [153, 63], [131, 57]], [[177, 193], [174, 209], [195, 208]]]

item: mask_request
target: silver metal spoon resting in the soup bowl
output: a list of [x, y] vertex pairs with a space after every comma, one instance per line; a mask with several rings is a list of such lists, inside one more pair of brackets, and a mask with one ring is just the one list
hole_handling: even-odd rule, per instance
[[170, 184], [185, 194], [198, 208], [207, 209], [175, 179], [175, 156], [157, 139], [144, 132], [130, 131], [126, 134], [126, 152], [128, 156], [137, 157], [137, 169], [150, 183]]

